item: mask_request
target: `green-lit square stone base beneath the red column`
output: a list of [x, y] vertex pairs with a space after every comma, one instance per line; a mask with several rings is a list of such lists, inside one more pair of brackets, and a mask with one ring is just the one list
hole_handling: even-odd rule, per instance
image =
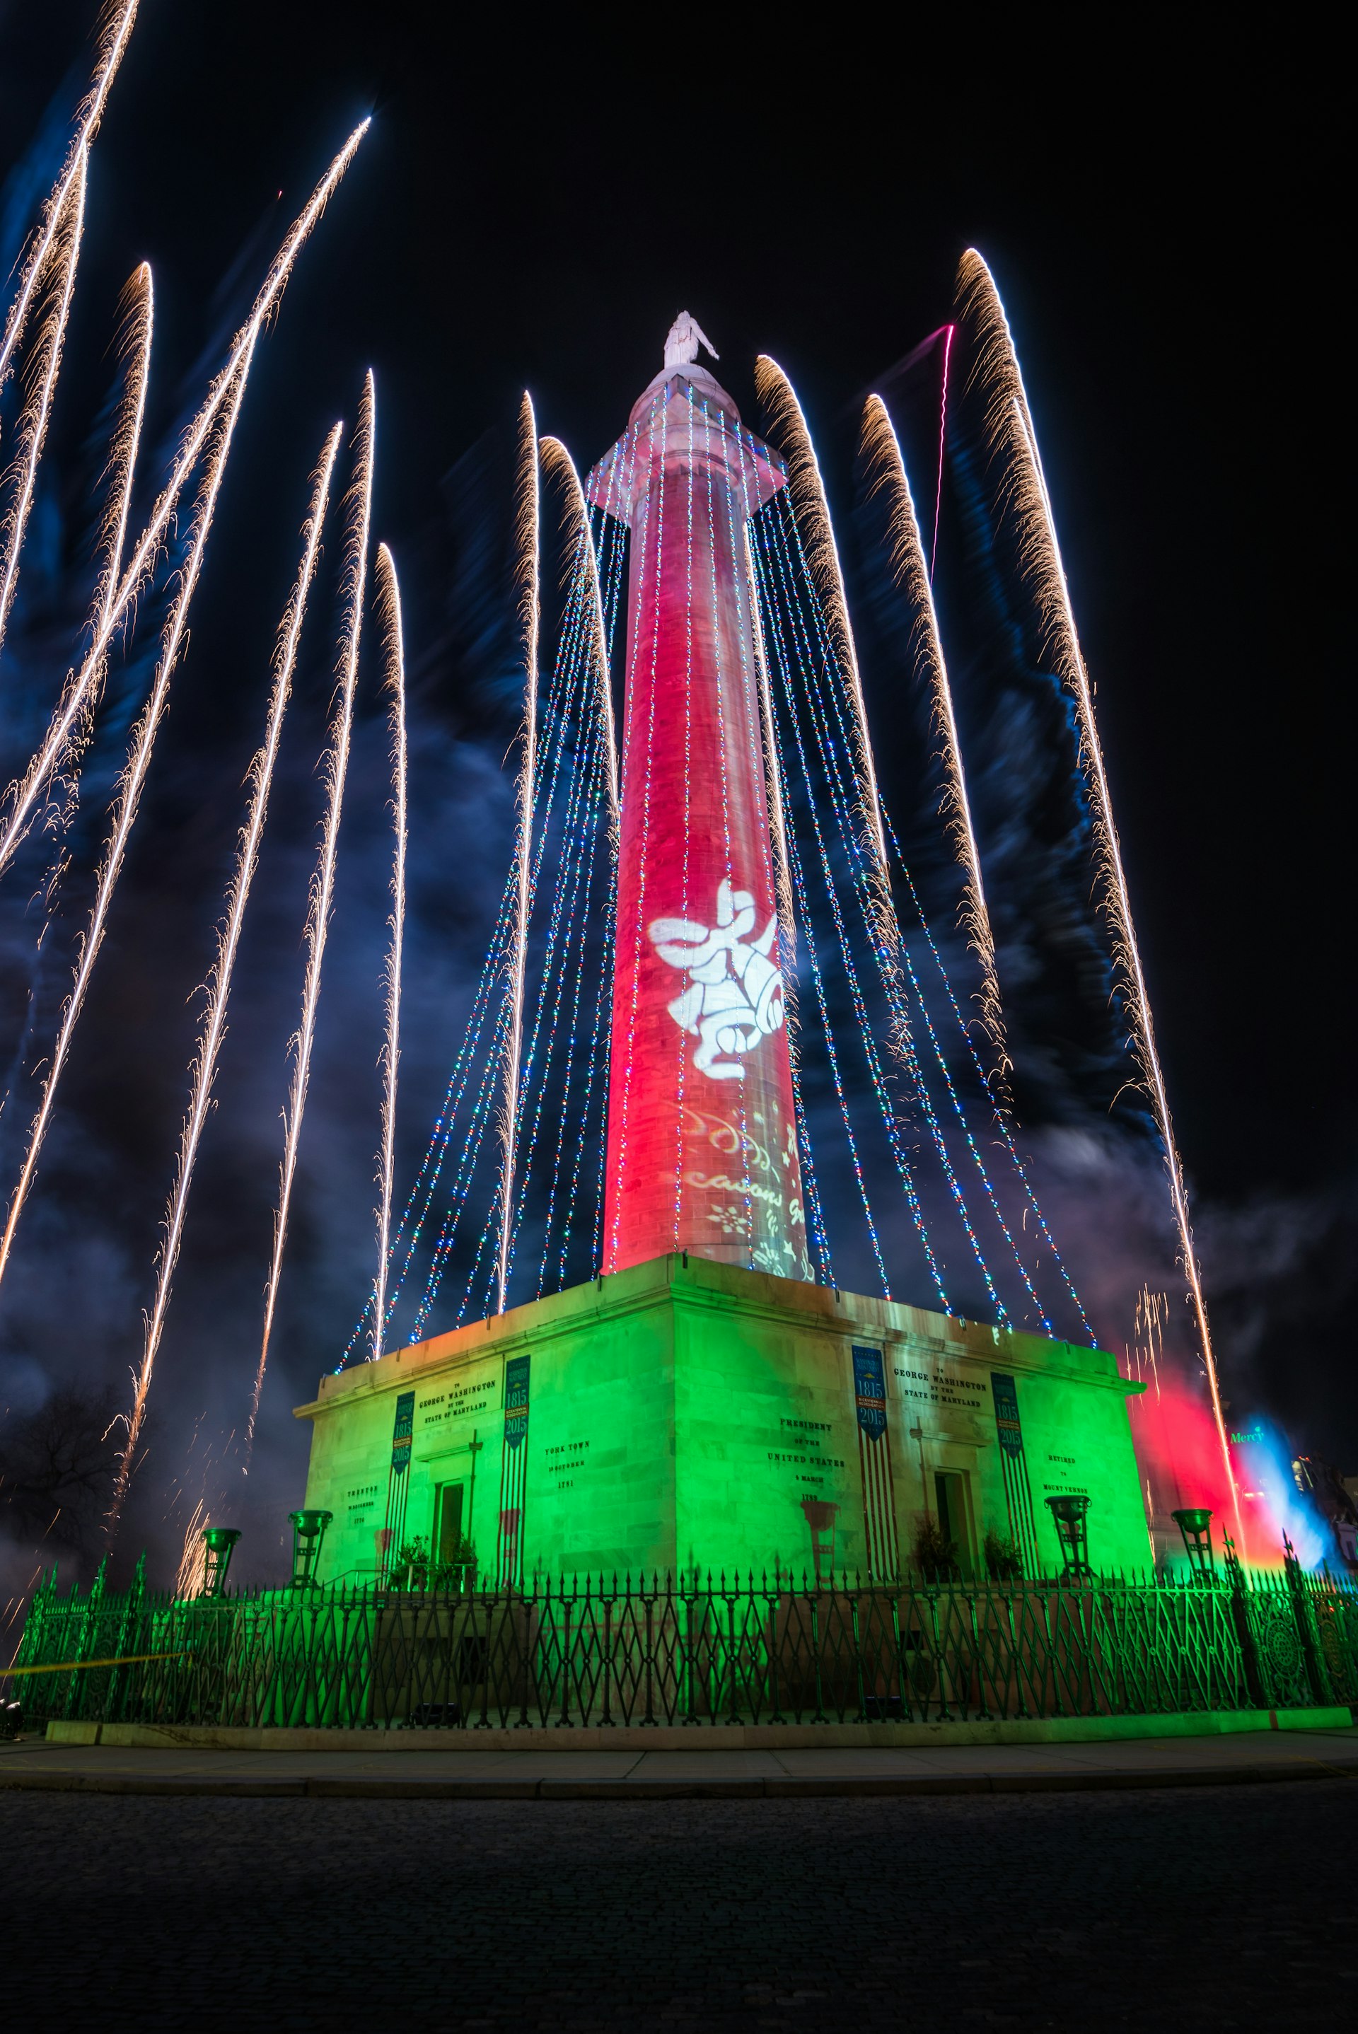
[[1090, 1497], [1090, 1562], [1151, 1556], [1126, 1395], [1098, 1349], [699, 1257], [657, 1257], [323, 1377], [307, 1507], [319, 1580], [423, 1542], [492, 1582], [917, 1566], [1061, 1570], [1047, 1497]]

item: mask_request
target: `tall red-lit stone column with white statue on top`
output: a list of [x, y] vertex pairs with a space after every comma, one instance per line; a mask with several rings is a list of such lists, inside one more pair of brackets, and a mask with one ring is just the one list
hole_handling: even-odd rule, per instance
[[811, 1277], [746, 553], [785, 468], [699, 340], [681, 313], [588, 482], [630, 527], [604, 1271]]

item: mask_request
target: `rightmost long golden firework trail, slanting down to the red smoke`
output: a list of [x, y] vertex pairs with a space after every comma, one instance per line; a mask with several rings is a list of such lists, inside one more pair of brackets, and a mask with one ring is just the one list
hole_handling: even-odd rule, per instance
[[1140, 948], [1136, 944], [1136, 928], [1132, 923], [1132, 899], [1122, 869], [1122, 846], [1112, 818], [1112, 795], [1108, 789], [1108, 775], [1104, 771], [1104, 751], [1098, 738], [1098, 724], [1094, 720], [1094, 694], [1084, 655], [1079, 651], [1075, 614], [1065, 580], [1065, 565], [1061, 561], [1055, 517], [1051, 513], [1051, 496], [1047, 494], [1047, 480], [1037, 452], [1033, 415], [1023, 386], [1023, 370], [1018, 368], [1018, 354], [1014, 352], [1014, 340], [1008, 327], [1008, 317], [1004, 315], [1000, 293], [994, 287], [994, 277], [974, 248], [968, 248], [962, 256], [962, 264], [958, 268], [958, 295], [960, 313], [972, 319], [976, 332], [978, 344], [972, 380], [982, 382], [986, 388], [986, 429], [990, 435], [990, 447], [994, 456], [1004, 460], [1008, 504], [1018, 527], [1023, 563], [1037, 600], [1037, 612], [1045, 635], [1045, 651], [1053, 657], [1055, 669], [1075, 700], [1075, 714], [1079, 722], [1079, 767], [1090, 793], [1094, 860], [1100, 877], [1102, 909], [1112, 934], [1112, 960], [1118, 976], [1118, 989], [1126, 1003], [1132, 1052], [1140, 1068], [1143, 1088], [1151, 1100], [1155, 1127], [1161, 1133], [1161, 1145], [1165, 1151], [1165, 1174], [1169, 1180], [1175, 1227], [1179, 1231], [1183, 1273], [1189, 1283], [1193, 1316], [1197, 1320], [1197, 1338], [1208, 1371], [1208, 1387], [1212, 1391], [1212, 1414], [1216, 1420], [1222, 1462], [1226, 1467], [1226, 1487], [1232, 1493], [1236, 1532], [1240, 1534], [1240, 1491], [1236, 1487], [1230, 1442], [1226, 1438], [1226, 1414], [1216, 1375], [1212, 1328], [1208, 1326], [1208, 1302], [1203, 1298], [1197, 1253], [1193, 1249], [1187, 1186], [1183, 1182], [1179, 1145], [1175, 1141], [1173, 1121], [1169, 1115], [1165, 1074], [1155, 1043], [1151, 997], [1147, 993], [1147, 978], [1140, 966]]

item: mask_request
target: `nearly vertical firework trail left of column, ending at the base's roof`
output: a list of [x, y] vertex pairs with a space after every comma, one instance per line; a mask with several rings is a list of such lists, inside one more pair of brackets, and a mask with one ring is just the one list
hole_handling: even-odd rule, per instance
[[518, 626], [522, 633], [524, 663], [524, 730], [522, 761], [518, 765], [518, 901], [514, 911], [514, 946], [510, 954], [508, 1005], [510, 1023], [504, 1052], [504, 1102], [500, 1135], [504, 1159], [500, 1165], [500, 1255], [496, 1265], [496, 1312], [504, 1312], [504, 1288], [508, 1283], [510, 1233], [514, 1224], [514, 1143], [518, 1125], [518, 1058], [522, 1052], [522, 993], [529, 966], [529, 864], [533, 856], [533, 773], [537, 769], [537, 633], [541, 620], [539, 602], [539, 561], [541, 561], [541, 500], [539, 500], [539, 454], [537, 419], [533, 399], [524, 395], [518, 413], [518, 513], [514, 531], [518, 537]]

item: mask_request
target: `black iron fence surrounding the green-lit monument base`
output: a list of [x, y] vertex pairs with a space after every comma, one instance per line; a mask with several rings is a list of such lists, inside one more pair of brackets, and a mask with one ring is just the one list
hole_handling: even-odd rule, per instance
[[[1330, 1574], [858, 1587], [571, 1580], [173, 1599], [96, 1580], [28, 1609], [30, 1723], [581, 1727], [943, 1723], [1358, 1704]], [[24, 1670], [24, 1672], [18, 1672]], [[37, 1670], [37, 1672], [35, 1672]]]

